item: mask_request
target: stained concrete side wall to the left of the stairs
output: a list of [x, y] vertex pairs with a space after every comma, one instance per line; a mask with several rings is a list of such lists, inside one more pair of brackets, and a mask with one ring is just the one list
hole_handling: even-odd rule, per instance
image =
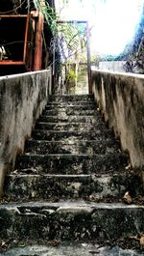
[[51, 94], [51, 71], [0, 77], [0, 194], [15, 156], [24, 149]]

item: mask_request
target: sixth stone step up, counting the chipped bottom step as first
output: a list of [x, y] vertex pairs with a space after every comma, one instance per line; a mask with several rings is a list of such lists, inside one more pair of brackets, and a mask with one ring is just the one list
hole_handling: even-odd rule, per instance
[[108, 126], [104, 123], [96, 123], [94, 126], [86, 123], [44, 123], [37, 122], [36, 129], [47, 129], [47, 130], [69, 130], [69, 131], [94, 131], [95, 129], [108, 129]]

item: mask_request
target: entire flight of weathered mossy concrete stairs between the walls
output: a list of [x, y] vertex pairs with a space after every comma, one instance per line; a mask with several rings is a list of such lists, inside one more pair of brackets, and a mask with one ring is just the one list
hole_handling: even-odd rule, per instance
[[51, 96], [6, 179], [0, 237], [53, 245], [140, 235], [144, 207], [124, 204], [127, 191], [135, 198], [140, 178], [93, 96]]

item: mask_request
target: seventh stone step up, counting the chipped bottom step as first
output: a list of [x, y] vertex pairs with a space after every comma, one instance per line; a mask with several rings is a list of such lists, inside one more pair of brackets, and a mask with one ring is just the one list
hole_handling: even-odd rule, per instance
[[67, 115], [58, 115], [58, 116], [47, 116], [43, 115], [39, 118], [39, 122], [45, 123], [87, 123], [89, 124], [97, 124], [104, 122], [102, 116], [67, 116]]

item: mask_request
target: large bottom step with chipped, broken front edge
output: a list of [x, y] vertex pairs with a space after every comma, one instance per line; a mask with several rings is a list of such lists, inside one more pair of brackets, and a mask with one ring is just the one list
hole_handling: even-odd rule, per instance
[[20, 203], [0, 205], [2, 240], [48, 242], [109, 241], [144, 230], [144, 206], [104, 203]]

